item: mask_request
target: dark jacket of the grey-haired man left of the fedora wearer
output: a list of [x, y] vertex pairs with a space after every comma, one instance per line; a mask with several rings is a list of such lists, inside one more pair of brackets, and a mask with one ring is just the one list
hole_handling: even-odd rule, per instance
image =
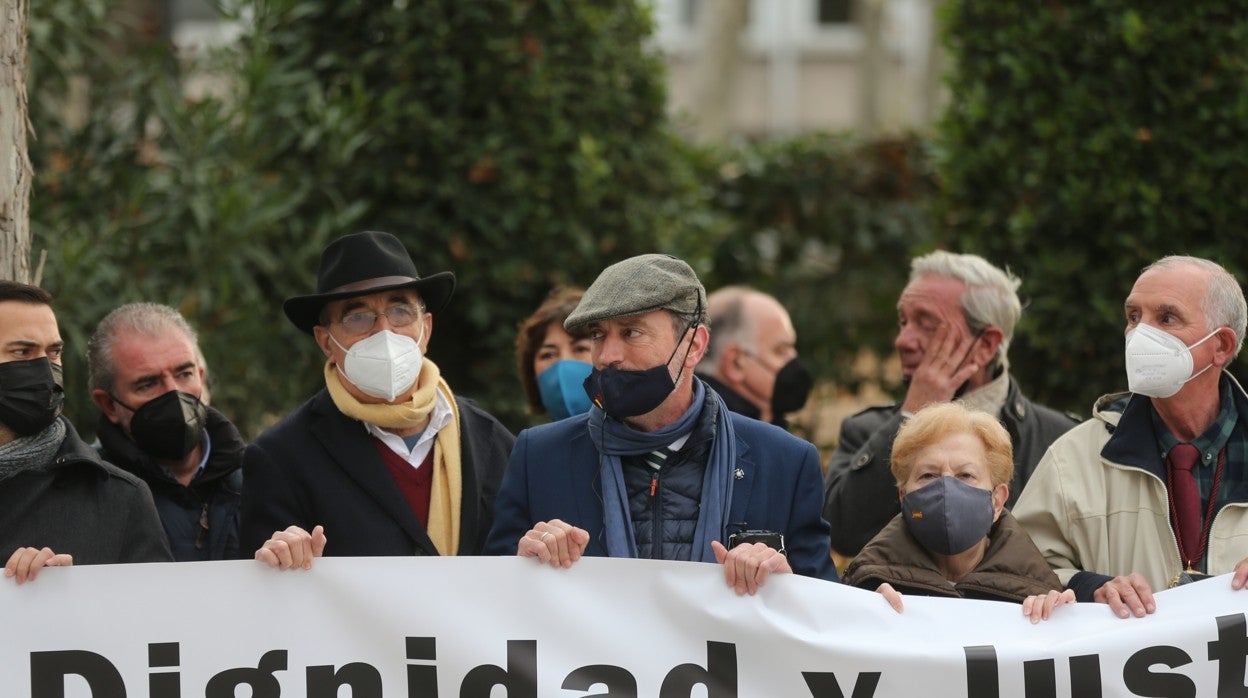
[[240, 557], [238, 511], [246, 443], [225, 415], [212, 407], [207, 412], [208, 462], [190, 484], [178, 482], [140, 451], [121, 427], [104, 415], [96, 427], [100, 455], [141, 477], [151, 488], [170, 549], [178, 562]]

